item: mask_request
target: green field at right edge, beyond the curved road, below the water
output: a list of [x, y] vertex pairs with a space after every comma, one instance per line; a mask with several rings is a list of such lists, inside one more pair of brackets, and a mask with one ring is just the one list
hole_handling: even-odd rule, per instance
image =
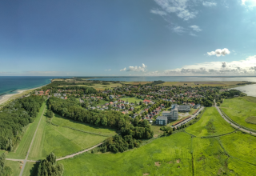
[[[248, 100], [250, 100], [250, 102]], [[256, 98], [230, 98], [225, 99], [220, 107], [234, 122], [256, 130], [256, 124], [246, 122], [246, 118], [255, 116], [256, 114], [256, 103], [253, 101], [256, 101]]]

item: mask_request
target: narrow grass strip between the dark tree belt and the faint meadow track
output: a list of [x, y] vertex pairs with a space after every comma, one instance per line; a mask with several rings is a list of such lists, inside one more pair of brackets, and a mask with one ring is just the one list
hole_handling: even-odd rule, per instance
[[103, 134], [108, 136], [113, 136], [117, 134], [116, 129], [114, 128], [107, 128], [103, 126], [93, 126], [88, 123], [74, 121], [69, 118], [63, 118], [58, 114], [54, 114], [54, 118], [52, 119], [52, 122], [54, 124], [57, 124], [58, 126], [69, 126], [78, 130], [84, 130], [84, 131], [88, 131], [95, 134]]

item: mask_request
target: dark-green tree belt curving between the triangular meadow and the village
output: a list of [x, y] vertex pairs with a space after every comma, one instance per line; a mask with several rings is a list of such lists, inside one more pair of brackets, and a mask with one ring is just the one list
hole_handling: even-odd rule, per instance
[[102, 145], [102, 151], [122, 152], [138, 147], [141, 139], [152, 138], [154, 135], [146, 120], [130, 118], [119, 111], [86, 110], [78, 102], [51, 97], [48, 100], [50, 110], [63, 117], [95, 126], [110, 126], [120, 130], [120, 136], [107, 138]]

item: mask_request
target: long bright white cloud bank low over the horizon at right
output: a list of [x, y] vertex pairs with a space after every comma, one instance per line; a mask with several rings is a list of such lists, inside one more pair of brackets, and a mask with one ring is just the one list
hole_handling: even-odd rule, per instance
[[245, 60], [232, 62], [203, 62], [190, 66], [183, 66], [174, 70], [164, 70], [163, 72], [148, 72], [146, 75], [255, 75], [256, 74], [256, 55], [250, 56]]

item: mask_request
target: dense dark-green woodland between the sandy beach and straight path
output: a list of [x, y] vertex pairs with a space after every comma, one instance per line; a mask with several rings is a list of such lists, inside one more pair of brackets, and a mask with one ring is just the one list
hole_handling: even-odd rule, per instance
[[40, 96], [18, 98], [0, 111], [0, 149], [13, 150], [22, 138], [22, 129], [34, 122], [44, 99]]

